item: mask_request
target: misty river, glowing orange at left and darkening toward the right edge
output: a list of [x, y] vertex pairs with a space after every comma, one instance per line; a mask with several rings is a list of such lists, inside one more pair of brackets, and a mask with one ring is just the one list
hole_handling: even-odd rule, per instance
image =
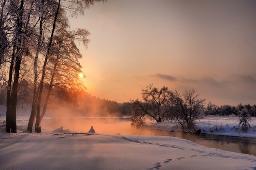
[[42, 121], [42, 126], [50, 126], [52, 128], [64, 126], [64, 129], [69, 129], [74, 132], [87, 132], [90, 127], [93, 126], [96, 133], [103, 134], [173, 136], [187, 139], [206, 147], [256, 156], [256, 139], [209, 134], [194, 135], [190, 133], [155, 130], [148, 127], [136, 128], [131, 127], [129, 118], [87, 117], [44, 119]]

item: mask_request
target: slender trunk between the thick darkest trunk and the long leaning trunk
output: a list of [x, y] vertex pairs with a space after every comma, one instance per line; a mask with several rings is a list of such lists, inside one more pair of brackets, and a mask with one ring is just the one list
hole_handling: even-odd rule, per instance
[[36, 104], [37, 104], [37, 97], [38, 97], [38, 93], [37, 93], [37, 80], [38, 80], [37, 67], [38, 67], [38, 55], [39, 55], [39, 52], [40, 52], [40, 46], [41, 46], [41, 42], [42, 42], [42, 33], [43, 33], [43, 27], [42, 26], [43, 26], [43, 18], [41, 16], [40, 26], [39, 26], [38, 44], [37, 44], [37, 49], [36, 49], [36, 54], [35, 54], [35, 61], [34, 61], [34, 91], [33, 91], [32, 108], [31, 108], [31, 114], [29, 116], [29, 123], [28, 123], [28, 127], [27, 127], [27, 130], [30, 133], [32, 133], [33, 123], [34, 123], [34, 120], [35, 120]]

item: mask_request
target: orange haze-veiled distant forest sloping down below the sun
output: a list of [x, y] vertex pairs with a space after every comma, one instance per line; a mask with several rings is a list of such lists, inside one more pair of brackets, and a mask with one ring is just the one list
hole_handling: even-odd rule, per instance
[[[42, 95], [43, 101], [46, 101], [49, 84], [44, 85]], [[0, 88], [0, 105], [6, 105], [6, 87]], [[29, 105], [33, 99], [33, 83], [23, 79], [18, 88], [17, 104]], [[44, 102], [42, 103], [44, 105]], [[52, 88], [47, 108], [72, 108], [76, 115], [96, 115], [96, 116], [131, 116], [131, 102], [118, 103], [108, 99], [100, 99], [91, 96], [84, 90], [70, 89], [62, 86]]]

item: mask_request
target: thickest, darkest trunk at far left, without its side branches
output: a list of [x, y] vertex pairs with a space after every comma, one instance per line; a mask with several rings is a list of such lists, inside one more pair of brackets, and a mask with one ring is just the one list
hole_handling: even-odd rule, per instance
[[[7, 125], [6, 122], [6, 131], [9, 131], [11, 128], [12, 129], [12, 133], [16, 133], [17, 132], [17, 125], [16, 125], [16, 107], [17, 107], [17, 90], [18, 90], [18, 84], [19, 84], [19, 74], [20, 74], [20, 64], [21, 64], [21, 59], [22, 59], [22, 51], [21, 51], [21, 33], [22, 33], [22, 26], [23, 26], [23, 5], [24, 5], [24, 0], [21, 0], [20, 2], [20, 9], [19, 9], [19, 14], [17, 17], [17, 42], [19, 43], [19, 45], [17, 45], [16, 48], [16, 53], [15, 54], [15, 76], [14, 76], [14, 81], [13, 81], [13, 85], [12, 85], [12, 93], [11, 96], [9, 97], [7, 94], [7, 99], [9, 98], [9, 105], [7, 106], [7, 109], [9, 109], [8, 111], [6, 111], [6, 117], [7, 117], [7, 113], [9, 114], [9, 125]], [[14, 45], [15, 46], [15, 45]], [[11, 69], [11, 68], [10, 68]], [[9, 74], [9, 78], [10, 78], [10, 74]], [[12, 77], [11, 77], [12, 79]], [[10, 91], [9, 91], [10, 93]], [[7, 120], [7, 118], [6, 118]]]

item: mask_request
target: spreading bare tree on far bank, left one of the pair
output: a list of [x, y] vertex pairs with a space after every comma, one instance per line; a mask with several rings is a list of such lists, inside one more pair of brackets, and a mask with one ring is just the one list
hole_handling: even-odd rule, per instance
[[151, 84], [142, 89], [142, 98], [143, 102], [138, 99], [131, 101], [133, 102], [132, 125], [143, 122], [145, 116], [162, 122], [170, 111], [169, 100], [172, 98], [172, 91], [165, 86], [158, 90]]

